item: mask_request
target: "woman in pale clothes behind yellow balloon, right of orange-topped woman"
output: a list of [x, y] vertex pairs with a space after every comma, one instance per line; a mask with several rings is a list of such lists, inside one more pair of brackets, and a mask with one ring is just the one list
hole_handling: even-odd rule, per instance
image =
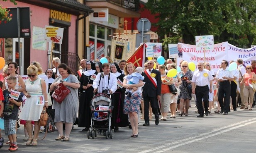
[[[176, 69], [176, 65], [170, 64], [169, 69]], [[180, 93], [180, 90], [178, 87], [181, 84], [180, 73], [177, 72], [177, 75], [175, 77], [173, 77], [173, 83], [175, 84], [176, 88], [178, 89], [178, 92], [176, 95], [173, 95], [171, 97], [170, 109], [171, 109], [171, 118], [176, 118], [177, 101], [178, 101], [178, 96]]]

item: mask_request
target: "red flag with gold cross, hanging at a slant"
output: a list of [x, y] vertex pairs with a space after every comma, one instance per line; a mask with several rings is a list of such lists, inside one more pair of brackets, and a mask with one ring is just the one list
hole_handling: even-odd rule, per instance
[[135, 67], [143, 67], [145, 60], [144, 50], [146, 43], [142, 43], [137, 50], [126, 60], [126, 62], [132, 62]]

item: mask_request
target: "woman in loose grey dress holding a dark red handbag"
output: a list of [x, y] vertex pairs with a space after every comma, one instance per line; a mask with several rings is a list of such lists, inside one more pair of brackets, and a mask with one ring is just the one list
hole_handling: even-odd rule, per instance
[[[70, 90], [70, 93], [62, 103], [58, 103], [56, 100], [53, 102], [52, 108], [55, 109], [54, 122], [59, 132], [59, 136], [55, 140], [61, 141], [63, 139], [63, 141], [69, 141], [69, 134], [78, 113], [78, 88], [80, 87], [80, 82], [66, 64], [61, 63], [58, 71], [60, 76], [54, 80], [50, 89], [55, 90], [62, 81], [62, 84]], [[65, 136], [63, 135], [63, 122], [65, 123]]]

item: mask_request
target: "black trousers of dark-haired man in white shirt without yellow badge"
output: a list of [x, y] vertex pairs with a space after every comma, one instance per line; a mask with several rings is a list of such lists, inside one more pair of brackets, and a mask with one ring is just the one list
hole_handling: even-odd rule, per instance
[[[219, 90], [218, 90], [218, 100], [219, 105], [221, 107], [221, 110], [224, 110], [224, 112], [229, 112], [229, 103], [230, 103], [230, 82], [229, 81], [223, 81], [219, 82]], [[223, 101], [224, 98], [224, 101]]]

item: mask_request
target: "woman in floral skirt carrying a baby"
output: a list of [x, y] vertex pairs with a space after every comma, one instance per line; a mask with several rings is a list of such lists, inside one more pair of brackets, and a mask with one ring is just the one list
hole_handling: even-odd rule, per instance
[[127, 63], [127, 65], [124, 68], [124, 74], [126, 76], [124, 77], [123, 87], [134, 90], [131, 97], [126, 96], [124, 99], [124, 114], [129, 115], [130, 123], [132, 126], [131, 137], [138, 137], [139, 135], [139, 119], [137, 114], [139, 113], [139, 106], [142, 98], [141, 86], [143, 85], [142, 80], [139, 81], [139, 84], [128, 84], [130, 79], [127, 79], [127, 76], [131, 75], [135, 71], [135, 66], [131, 62]]

